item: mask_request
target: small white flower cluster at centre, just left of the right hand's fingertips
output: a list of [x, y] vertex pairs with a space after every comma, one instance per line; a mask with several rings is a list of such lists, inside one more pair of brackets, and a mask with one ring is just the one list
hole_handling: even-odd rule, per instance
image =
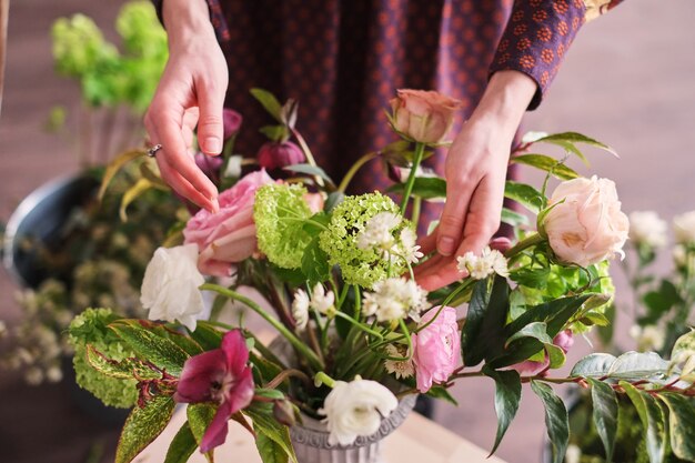
[[417, 321], [420, 313], [429, 309], [427, 292], [413, 280], [390, 278], [377, 281], [372, 292], [364, 293], [362, 313], [376, 315], [379, 322], [397, 321], [406, 315]]

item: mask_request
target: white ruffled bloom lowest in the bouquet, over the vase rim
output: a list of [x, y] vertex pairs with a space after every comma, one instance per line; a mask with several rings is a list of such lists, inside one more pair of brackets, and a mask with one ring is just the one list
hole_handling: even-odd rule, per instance
[[379, 431], [382, 419], [397, 405], [397, 399], [385, 386], [357, 376], [350, 383], [335, 381], [319, 413], [325, 416], [329, 443], [350, 445], [357, 436]]

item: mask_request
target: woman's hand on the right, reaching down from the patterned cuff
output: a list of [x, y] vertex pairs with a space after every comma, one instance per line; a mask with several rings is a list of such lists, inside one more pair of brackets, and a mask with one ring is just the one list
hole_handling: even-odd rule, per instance
[[449, 150], [446, 203], [436, 230], [421, 241], [436, 254], [415, 268], [421, 286], [432, 291], [462, 278], [456, 256], [480, 254], [500, 228], [504, 182], [514, 134], [536, 91], [517, 71], [500, 71]]

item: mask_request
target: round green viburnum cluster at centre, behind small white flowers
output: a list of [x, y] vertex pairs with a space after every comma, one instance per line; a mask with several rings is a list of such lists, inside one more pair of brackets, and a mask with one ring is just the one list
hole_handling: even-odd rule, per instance
[[[401, 213], [391, 198], [376, 191], [348, 197], [335, 207], [328, 230], [319, 235], [319, 244], [329, 254], [329, 263], [340, 265], [343, 279], [349, 284], [371, 288], [377, 281], [406, 271], [403, 259], [391, 260], [390, 263], [380, 250], [357, 246], [357, 234], [365, 229], [366, 222], [380, 212]], [[396, 236], [406, 227], [412, 228], [412, 223], [403, 219], [401, 224], [392, 230], [393, 235]]]

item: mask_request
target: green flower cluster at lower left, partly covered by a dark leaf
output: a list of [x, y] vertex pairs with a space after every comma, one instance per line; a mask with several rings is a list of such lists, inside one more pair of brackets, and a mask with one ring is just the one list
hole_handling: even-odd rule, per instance
[[87, 345], [91, 344], [108, 359], [121, 361], [134, 356], [134, 352], [109, 330], [109, 323], [120, 319], [110, 309], [88, 309], [70, 323], [69, 341], [74, 346], [77, 382], [104, 404], [129, 409], [138, 401], [135, 380], [121, 380], [94, 370], [87, 361]]

